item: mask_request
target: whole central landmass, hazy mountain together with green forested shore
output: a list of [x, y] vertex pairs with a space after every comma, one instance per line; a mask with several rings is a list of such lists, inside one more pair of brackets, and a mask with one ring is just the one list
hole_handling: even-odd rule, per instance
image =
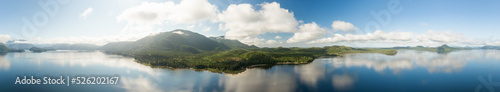
[[303, 64], [323, 56], [349, 53], [383, 53], [393, 49], [361, 49], [345, 46], [323, 48], [258, 48], [224, 37], [207, 38], [186, 30], [148, 36], [135, 42], [109, 43], [100, 48], [106, 53], [134, 57], [151, 67], [189, 68], [218, 73], [239, 73], [246, 67], [276, 64]]

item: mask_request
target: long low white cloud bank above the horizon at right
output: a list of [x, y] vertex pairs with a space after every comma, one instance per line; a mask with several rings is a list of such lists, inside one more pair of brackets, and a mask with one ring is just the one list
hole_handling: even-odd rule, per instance
[[435, 43], [435, 44], [481, 44], [466, 36], [452, 32], [436, 32], [429, 30], [425, 34], [412, 32], [383, 32], [380, 30], [367, 34], [334, 34], [333, 37], [322, 38], [308, 43], [335, 42], [388, 42], [388, 43]]

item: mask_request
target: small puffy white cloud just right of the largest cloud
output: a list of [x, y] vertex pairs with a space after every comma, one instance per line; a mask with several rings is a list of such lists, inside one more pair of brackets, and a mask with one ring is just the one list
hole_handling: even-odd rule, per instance
[[288, 39], [287, 43], [296, 43], [302, 41], [310, 41], [323, 37], [325, 29], [319, 27], [318, 24], [312, 22], [299, 26], [299, 31], [295, 33], [292, 38]]

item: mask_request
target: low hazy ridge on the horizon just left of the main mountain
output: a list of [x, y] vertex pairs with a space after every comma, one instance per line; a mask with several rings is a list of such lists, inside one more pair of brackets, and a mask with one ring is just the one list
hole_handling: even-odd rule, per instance
[[93, 44], [54, 44], [48, 48], [56, 50], [96, 50], [99, 46]]

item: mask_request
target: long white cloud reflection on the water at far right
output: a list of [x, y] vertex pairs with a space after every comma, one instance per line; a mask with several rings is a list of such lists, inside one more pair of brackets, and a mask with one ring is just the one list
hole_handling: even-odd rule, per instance
[[[471, 54], [472, 53], [472, 54]], [[500, 60], [500, 53], [496, 50], [464, 50], [449, 54], [438, 54], [427, 51], [400, 50], [395, 56], [383, 54], [349, 54], [341, 58], [327, 58], [335, 68], [366, 67], [377, 72], [386, 69], [399, 73], [424, 67], [429, 73], [460, 72], [468, 61], [476, 59]]]

